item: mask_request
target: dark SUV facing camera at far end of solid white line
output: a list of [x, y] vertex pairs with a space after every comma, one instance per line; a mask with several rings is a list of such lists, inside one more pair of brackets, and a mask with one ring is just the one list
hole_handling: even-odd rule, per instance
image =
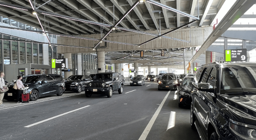
[[174, 73], [164, 74], [161, 76], [158, 82], [158, 90], [161, 91], [162, 89], [175, 89], [177, 90], [177, 86], [173, 84], [178, 84], [177, 77]]

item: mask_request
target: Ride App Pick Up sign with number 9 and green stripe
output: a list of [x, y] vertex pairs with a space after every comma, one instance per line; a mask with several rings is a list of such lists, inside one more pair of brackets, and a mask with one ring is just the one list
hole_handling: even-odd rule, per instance
[[247, 61], [247, 49], [225, 50], [225, 61]]

